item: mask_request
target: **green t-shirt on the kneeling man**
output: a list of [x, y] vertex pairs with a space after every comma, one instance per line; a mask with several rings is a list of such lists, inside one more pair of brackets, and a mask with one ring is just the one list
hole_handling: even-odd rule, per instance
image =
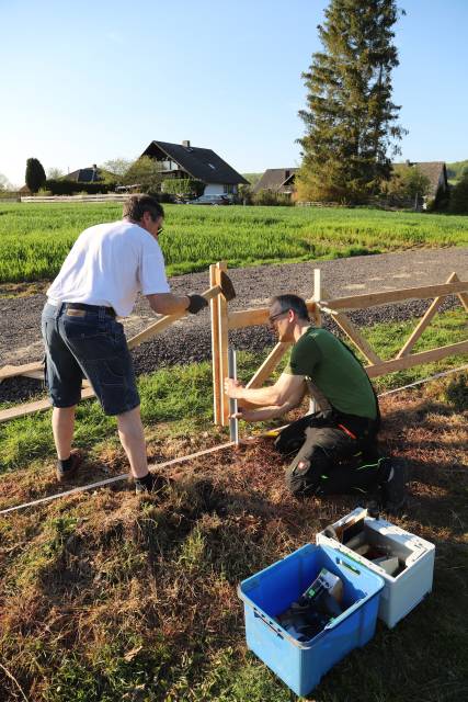
[[305, 375], [345, 415], [376, 419], [376, 400], [361, 363], [327, 329], [309, 327], [290, 352], [285, 373]]

